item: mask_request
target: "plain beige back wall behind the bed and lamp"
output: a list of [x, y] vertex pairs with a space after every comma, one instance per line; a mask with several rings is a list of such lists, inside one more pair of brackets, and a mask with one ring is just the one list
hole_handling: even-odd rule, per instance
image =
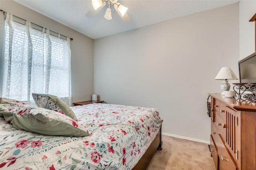
[[[94, 93], [110, 104], [154, 107], [163, 132], [210, 140], [209, 92], [223, 66], [238, 75], [239, 4], [94, 40]], [[229, 81], [238, 82], [236, 81]]]

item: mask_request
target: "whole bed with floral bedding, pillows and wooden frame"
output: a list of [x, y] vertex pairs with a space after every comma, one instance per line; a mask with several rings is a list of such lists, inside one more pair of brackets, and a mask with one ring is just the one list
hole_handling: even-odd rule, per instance
[[56, 105], [0, 99], [3, 169], [141, 170], [162, 149], [162, 120], [154, 108], [88, 104], [69, 107], [73, 119]]

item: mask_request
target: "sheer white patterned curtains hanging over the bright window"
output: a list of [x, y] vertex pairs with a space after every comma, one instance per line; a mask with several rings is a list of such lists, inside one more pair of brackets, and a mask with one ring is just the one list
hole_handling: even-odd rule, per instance
[[34, 103], [32, 93], [52, 94], [71, 106], [70, 39], [16, 23], [11, 14], [5, 22], [0, 95]]

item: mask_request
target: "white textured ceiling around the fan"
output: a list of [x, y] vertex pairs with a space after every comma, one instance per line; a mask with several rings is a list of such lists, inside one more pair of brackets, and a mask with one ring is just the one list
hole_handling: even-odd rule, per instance
[[93, 18], [86, 17], [91, 0], [14, 0], [44, 16], [62, 23], [92, 39], [106, 37], [174, 18], [227, 6], [240, 0], [119, 0], [128, 7], [132, 21], [124, 23], [117, 12], [112, 20], [103, 16], [104, 6]]

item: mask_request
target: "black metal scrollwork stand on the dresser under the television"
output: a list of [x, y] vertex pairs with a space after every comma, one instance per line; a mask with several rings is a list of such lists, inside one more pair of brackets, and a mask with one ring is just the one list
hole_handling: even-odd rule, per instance
[[[232, 97], [234, 100], [239, 101], [250, 101], [250, 102], [256, 102], [256, 83], [250, 83], [250, 86], [247, 88], [245, 86], [247, 83], [234, 83], [234, 91], [236, 94]], [[246, 90], [249, 90], [250, 94], [245, 94]]]

